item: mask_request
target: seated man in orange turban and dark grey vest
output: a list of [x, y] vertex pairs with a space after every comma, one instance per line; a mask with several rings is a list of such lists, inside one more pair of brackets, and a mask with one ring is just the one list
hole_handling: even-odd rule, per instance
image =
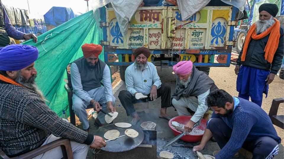
[[[103, 50], [101, 45], [84, 44], [81, 57], [71, 64], [71, 83], [73, 87], [72, 109], [83, 124], [83, 129], [89, 130], [86, 108], [93, 105], [99, 113], [95, 120], [96, 126], [103, 126], [104, 116], [100, 110], [114, 112], [115, 98], [112, 94], [111, 75], [109, 67], [99, 59]], [[104, 86], [101, 85], [103, 80]]]

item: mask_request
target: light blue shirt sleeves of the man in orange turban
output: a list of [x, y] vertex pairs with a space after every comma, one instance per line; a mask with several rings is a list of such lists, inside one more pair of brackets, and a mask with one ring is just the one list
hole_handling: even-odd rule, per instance
[[[71, 81], [72, 81], [73, 92], [82, 100], [90, 102], [92, 98], [90, 97], [87, 91], [83, 90], [81, 75], [77, 65], [74, 62], [71, 64]], [[106, 101], [107, 102], [112, 101], [112, 96], [113, 96], [112, 82], [110, 77], [110, 70], [107, 65], [104, 67], [103, 83], [105, 87], [104, 94], [106, 95]]]

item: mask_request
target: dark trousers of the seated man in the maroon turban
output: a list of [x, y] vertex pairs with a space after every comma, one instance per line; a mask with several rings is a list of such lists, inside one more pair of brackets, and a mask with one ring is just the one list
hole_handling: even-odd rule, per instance
[[[118, 98], [126, 110], [127, 116], [135, 114], [135, 108], [133, 106], [134, 103], [141, 103], [141, 102], [149, 102], [150, 94], [148, 98], [137, 100], [134, 96], [131, 95], [130, 92], [127, 90], [122, 90], [119, 92]], [[158, 98], [161, 97], [161, 107], [167, 108], [170, 107], [170, 99], [171, 99], [171, 87], [167, 83], [163, 83], [161, 87], [157, 90]]]

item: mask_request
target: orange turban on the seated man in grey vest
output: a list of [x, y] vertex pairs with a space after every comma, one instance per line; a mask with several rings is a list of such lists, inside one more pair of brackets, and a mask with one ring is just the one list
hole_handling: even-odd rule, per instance
[[101, 51], [103, 50], [103, 47], [101, 45], [97, 44], [84, 44], [82, 45], [82, 51], [85, 58], [90, 57], [92, 54], [96, 57], [99, 57], [101, 54]]

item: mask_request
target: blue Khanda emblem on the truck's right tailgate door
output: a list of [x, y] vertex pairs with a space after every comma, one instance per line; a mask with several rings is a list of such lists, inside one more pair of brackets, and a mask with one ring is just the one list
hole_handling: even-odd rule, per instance
[[218, 21], [217, 25], [215, 23], [212, 24], [212, 29], [211, 29], [211, 36], [213, 37], [213, 39], [211, 40], [211, 45], [214, 43], [218, 45], [219, 43], [219, 38], [221, 39], [221, 43], [224, 43], [224, 36], [226, 33], [226, 24], [224, 22], [223, 25], [221, 25], [221, 22]]

